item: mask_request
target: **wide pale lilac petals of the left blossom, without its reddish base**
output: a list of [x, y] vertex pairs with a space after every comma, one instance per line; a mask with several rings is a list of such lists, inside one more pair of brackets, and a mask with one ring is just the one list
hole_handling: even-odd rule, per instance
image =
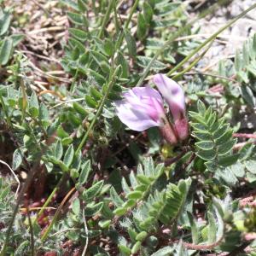
[[137, 87], [125, 92], [123, 96], [123, 100], [114, 103], [119, 119], [131, 130], [144, 131], [163, 125], [166, 114], [157, 90]]

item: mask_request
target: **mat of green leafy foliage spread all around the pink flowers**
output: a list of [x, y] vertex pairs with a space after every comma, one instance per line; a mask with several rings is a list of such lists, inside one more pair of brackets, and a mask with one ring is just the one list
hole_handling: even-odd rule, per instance
[[[256, 150], [253, 139], [240, 139], [241, 147], [234, 138], [235, 131], [245, 131], [236, 121], [241, 106], [252, 114], [255, 107], [256, 37], [236, 51], [234, 61], [220, 61], [211, 79], [205, 73], [180, 76], [191, 136], [169, 145], [159, 127], [139, 134], [126, 129], [113, 101], [137, 84], [154, 58], [145, 84], [200, 45], [193, 37], [199, 27], [183, 30], [194, 7], [183, 1], [126, 2], [55, 5], [70, 25], [67, 42], [61, 41], [65, 74], [59, 78], [49, 76], [47, 58], [47, 65], [38, 61], [40, 50], [33, 52], [36, 64], [19, 51], [22, 36], [10, 30], [12, 19], [19, 26], [17, 16], [0, 9], [0, 143], [3, 151], [11, 148], [1, 158], [9, 161], [12, 154], [10, 166], [22, 184], [33, 175], [14, 223], [15, 185], [0, 178], [0, 243], [8, 255], [29, 255], [32, 247], [37, 255], [69, 249], [82, 254], [85, 247], [91, 255], [145, 256], [256, 247], [245, 240], [255, 232], [254, 201], [241, 204], [256, 183]], [[44, 11], [46, 17], [51, 9]], [[188, 39], [172, 38], [180, 30]], [[215, 93], [212, 85], [224, 87]], [[251, 136], [254, 126], [247, 128]]]

